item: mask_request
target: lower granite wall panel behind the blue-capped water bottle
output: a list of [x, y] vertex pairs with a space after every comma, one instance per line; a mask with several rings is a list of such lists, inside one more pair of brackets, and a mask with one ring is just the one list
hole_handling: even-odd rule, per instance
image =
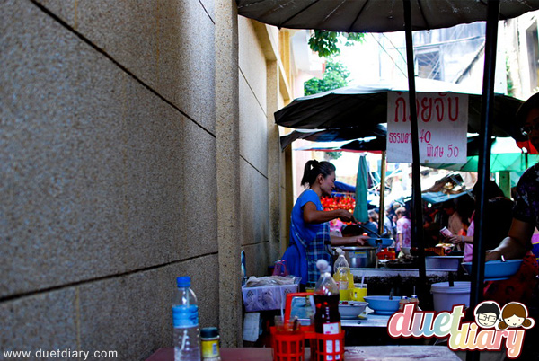
[[216, 326], [216, 262], [216, 255], [210, 255], [80, 286], [81, 348], [116, 350], [119, 359], [144, 360], [157, 348], [171, 347], [172, 297], [179, 276], [191, 277], [200, 327]]

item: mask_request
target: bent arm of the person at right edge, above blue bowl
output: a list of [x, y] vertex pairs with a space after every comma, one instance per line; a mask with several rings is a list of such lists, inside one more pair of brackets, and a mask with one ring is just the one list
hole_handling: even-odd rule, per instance
[[499, 260], [503, 255], [506, 259], [521, 259], [531, 248], [532, 235], [535, 225], [513, 218], [508, 236], [494, 250], [486, 251], [485, 260]]

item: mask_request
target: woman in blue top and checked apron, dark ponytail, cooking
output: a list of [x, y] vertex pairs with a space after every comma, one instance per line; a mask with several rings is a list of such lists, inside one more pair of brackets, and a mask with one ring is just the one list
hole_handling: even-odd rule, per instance
[[290, 246], [283, 255], [290, 274], [301, 277], [301, 285], [314, 286], [318, 277], [316, 261], [331, 261], [331, 245], [363, 245], [367, 236], [338, 237], [330, 235], [330, 221], [352, 219], [345, 209], [324, 211], [320, 198], [331, 197], [335, 188], [335, 166], [329, 162], [305, 163], [301, 184], [304, 192], [297, 198], [290, 222]]

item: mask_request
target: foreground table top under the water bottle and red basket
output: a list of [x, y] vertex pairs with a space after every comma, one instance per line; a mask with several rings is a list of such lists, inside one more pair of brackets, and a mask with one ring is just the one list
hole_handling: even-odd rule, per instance
[[[364, 346], [347, 347], [346, 361], [459, 361], [446, 346]], [[271, 348], [221, 348], [222, 361], [273, 361]], [[309, 361], [310, 350], [305, 349], [305, 361]], [[172, 348], [159, 348], [146, 361], [173, 361]]]

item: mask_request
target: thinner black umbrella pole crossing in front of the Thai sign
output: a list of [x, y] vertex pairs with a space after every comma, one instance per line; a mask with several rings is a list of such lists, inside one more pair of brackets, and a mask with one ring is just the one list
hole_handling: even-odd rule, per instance
[[[410, 103], [410, 128], [411, 128], [411, 236], [418, 244], [420, 264], [420, 277], [418, 280], [418, 295], [427, 304], [429, 297], [429, 285], [427, 284], [427, 269], [425, 265], [425, 242], [423, 239], [423, 204], [421, 199], [420, 178], [420, 143], [418, 116], [416, 109], [415, 71], [413, 60], [413, 40], [411, 37], [411, 4], [410, 0], [404, 0], [404, 26], [406, 34], [406, 63], [408, 66], [408, 87]], [[428, 303], [429, 306], [429, 303]]]

